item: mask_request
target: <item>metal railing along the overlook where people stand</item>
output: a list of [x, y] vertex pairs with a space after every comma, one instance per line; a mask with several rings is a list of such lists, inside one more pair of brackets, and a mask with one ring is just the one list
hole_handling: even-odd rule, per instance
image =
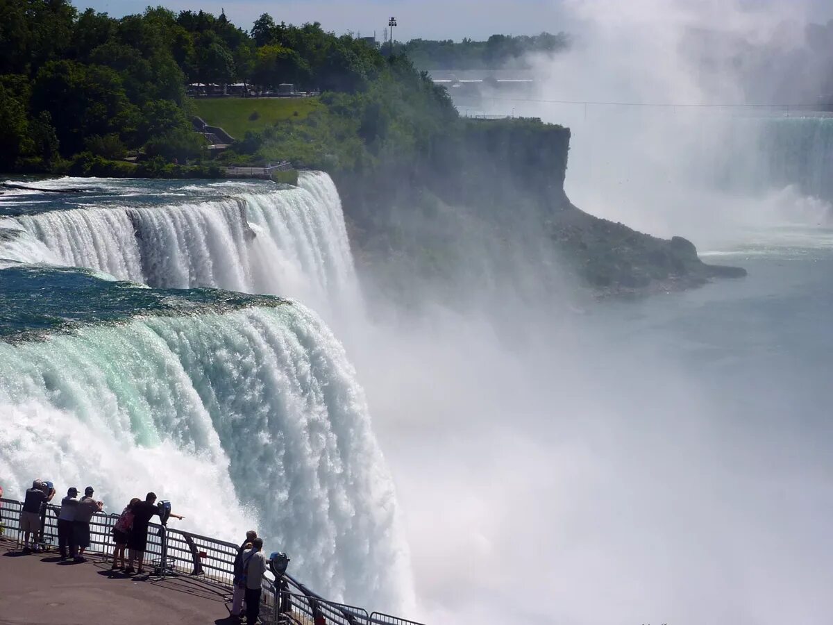
[[[4, 524], [7, 538], [22, 542], [20, 512], [22, 502], [0, 499], [0, 522]], [[48, 505], [42, 514], [42, 532], [38, 543], [45, 548], [57, 548], [57, 515], [60, 507]], [[116, 543], [112, 539], [112, 527], [117, 514], [96, 512], [90, 521], [90, 547], [88, 552], [112, 557]], [[234, 560], [238, 546], [192, 532], [151, 523], [147, 531], [147, 551], [154, 574], [160, 577], [187, 575], [198, 577], [201, 582], [218, 589], [232, 591]], [[261, 620], [277, 623], [301, 623], [318, 625], [330, 622], [338, 625], [421, 625], [381, 612], [368, 614], [362, 607], [333, 602], [321, 597], [298, 582], [288, 573], [274, 579], [271, 572], [263, 580]]]

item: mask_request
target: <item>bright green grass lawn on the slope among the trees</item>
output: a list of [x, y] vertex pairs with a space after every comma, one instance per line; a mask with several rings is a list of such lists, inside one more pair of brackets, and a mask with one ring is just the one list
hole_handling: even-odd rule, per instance
[[[285, 119], [303, 119], [324, 108], [317, 97], [207, 97], [194, 100], [197, 115], [210, 126], [219, 126], [233, 138], [249, 130], [262, 130]], [[251, 119], [257, 112], [257, 119]], [[297, 113], [297, 114], [296, 114]]]

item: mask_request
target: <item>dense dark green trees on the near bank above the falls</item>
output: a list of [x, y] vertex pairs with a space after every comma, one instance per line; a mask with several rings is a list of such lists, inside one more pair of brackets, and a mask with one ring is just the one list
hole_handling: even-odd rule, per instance
[[66, 171], [139, 148], [182, 163], [202, 153], [189, 82], [357, 93], [385, 71], [376, 49], [318, 23], [264, 14], [246, 32], [202, 11], [114, 19], [67, 0], [0, 0], [0, 170]]

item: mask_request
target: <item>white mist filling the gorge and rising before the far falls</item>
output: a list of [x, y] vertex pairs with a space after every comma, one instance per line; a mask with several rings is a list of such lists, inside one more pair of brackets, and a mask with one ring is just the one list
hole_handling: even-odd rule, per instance
[[[576, 206], [705, 252], [761, 236], [774, 244], [769, 229], [826, 218], [829, 198], [773, 175], [760, 150], [766, 119], [673, 106], [756, 97], [728, 52], [702, 71], [692, 32], [790, 52], [805, 43], [800, 7], [566, 8], [581, 31], [570, 52], [531, 59], [541, 92], [529, 99], [539, 102], [495, 98], [484, 112], [513, 107], [571, 128], [566, 193]], [[540, 102], [553, 100], [657, 106]], [[446, 288], [366, 268], [374, 322], [348, 340], [397, 482], [417, 617], [825, 622], [833, 545], [823, 519], [833, 502], [817, 441], [831, 433], [820, 418], [830, 341], [814, 330], [826, 304], [791, 341], [775, 338], [794, 291], [824, 274], [797, 285], [746, 258], [741, 286], [588, 302], [556, 254], [542, 262], [551, 242], [540, 228], [537, 241], [526, 225], [522, 237], [506, 235], [509, 262], [489, 228], [483, 235], [487, 216], [455, 216], [459, 258], [469, 260], [449, 270]], [[421, 225], [425, 238], [441, 228]], [[501, 270], [473, 288], [471, 263]], [[386, 297], [397, 278], [419, 306]], [[777, 298], [772, 279], [783, 280]]]

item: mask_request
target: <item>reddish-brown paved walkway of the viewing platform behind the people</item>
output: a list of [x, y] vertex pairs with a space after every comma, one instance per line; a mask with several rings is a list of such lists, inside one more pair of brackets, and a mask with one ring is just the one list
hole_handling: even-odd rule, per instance
[[191, 577], [111, 575], [100, 557], [75, 564], [24, 555], [0, 540], [0, 625], [231, 625], [228, 593]]

